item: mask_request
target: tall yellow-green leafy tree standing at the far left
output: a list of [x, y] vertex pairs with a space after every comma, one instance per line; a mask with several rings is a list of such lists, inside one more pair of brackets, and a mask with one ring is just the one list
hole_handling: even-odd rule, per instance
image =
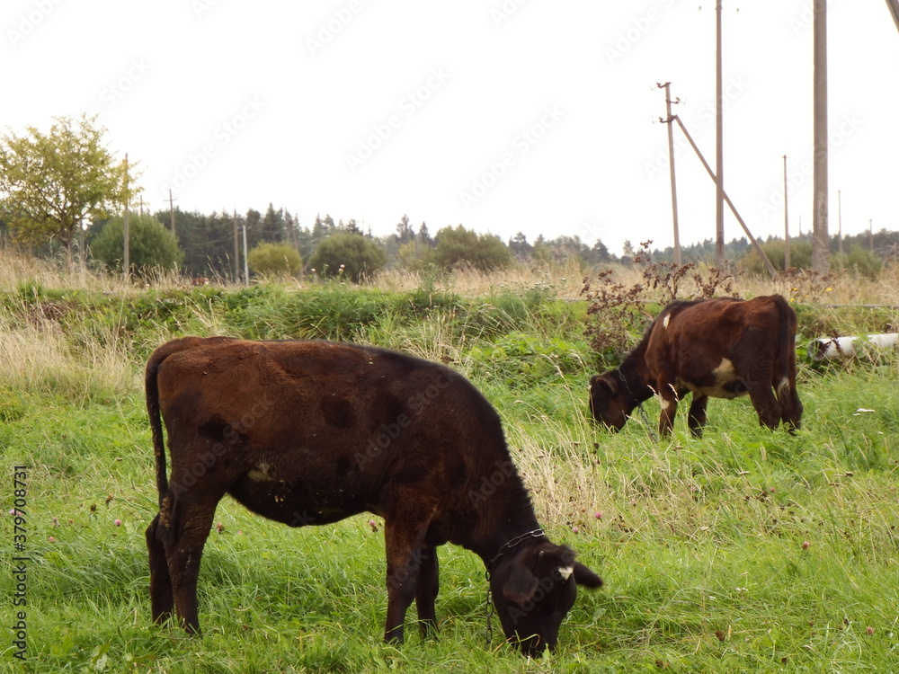
[[71, 266], [82, 223], [104, 219], [129, 199], [127, 166], [103, 143], [96, 117], [58, 117], [49, 133], [29, 127], [0, 139], [0, 198], [6, 224], [22, 241], [58, 239]]

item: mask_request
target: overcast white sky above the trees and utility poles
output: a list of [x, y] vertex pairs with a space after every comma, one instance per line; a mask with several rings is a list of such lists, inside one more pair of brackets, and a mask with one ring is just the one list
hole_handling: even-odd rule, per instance
[[[407, 214], [671, 245], [676, 113], [715, 164], [714, 2], [4, 0], [0, 127], [97, 111], [150, 208], [269, 202], [300, 224]], [[811, 0], [724, 0], [725, 191], [754, 235], [811, 228]], [[830, 231], [899, 229], [899, 32], [884, 0], [828, 3]], [[681, 243], [715, 236], [715, 190], [680, 136]], [[743, 232], [730, 213], [725, 238]]]

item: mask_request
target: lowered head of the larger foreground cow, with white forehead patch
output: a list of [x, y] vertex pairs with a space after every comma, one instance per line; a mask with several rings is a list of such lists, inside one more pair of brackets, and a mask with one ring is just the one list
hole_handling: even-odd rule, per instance
[[575, 562], [565, 545], [544, 541], [504, 555], [491, 573], [490, 590], [506, 638], [525, 655], [554, 650], [578, 585], [599, 588], [602, 579]]

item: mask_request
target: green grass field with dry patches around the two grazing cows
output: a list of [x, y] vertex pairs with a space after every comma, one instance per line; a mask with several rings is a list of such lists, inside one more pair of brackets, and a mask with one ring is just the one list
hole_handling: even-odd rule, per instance
[[[806, 413], [795, 437], [761, 430], [740, 399], [709, 404], [702, 439], [680, 415], [658, 441], [639, 415], [616, 435], [586, 419], [598, 364], [584, 303], [562, 299], [576, 297], [576, 270], [438, 288], [397, 276], [366, 288], [187, 289], [36, 265], [0, 264], [14, 268], [0, 274], [0, 671], [899, 671], [893, 353], [823, 367], [800, 357]], [[899, 304], [895, 280], [837, 279], [826, 296], [796, 297], [800, 346], [821, 330], [895, 326], [894, 309], [830, 306]], [[788, 286], [740, 288], [751, 297]], [[501, 413], [548, 535], [606, 587], [581, 591], [557, 652], [529, 661], [503, 643], [495, 617], [486, 643], [484, 565], [447, 545], [441, 632], [422, 641], [407, 629], [397, 648], [381, 641], [378, 518], [290, 529], [226, 499], [200, 572], [205, 636], [151, 625], [143, 533], [156, 491], [142, 365], [185, 333], [339, 338], [449, 362]], [[653, 427], [657, 413], [645, 404]], [[14, 483], [15, 466], [27, 486]], [[20, 553], [8, 514], [17, 496]], [[15, 657], [19, 611], [25, 661]]]

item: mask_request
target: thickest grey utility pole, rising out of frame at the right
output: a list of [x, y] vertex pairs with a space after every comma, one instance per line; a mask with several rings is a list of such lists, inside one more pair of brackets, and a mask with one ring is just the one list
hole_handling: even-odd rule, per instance
[[814, 0], [814, 152], [812, 269], [827, 273], [827, 2]]

